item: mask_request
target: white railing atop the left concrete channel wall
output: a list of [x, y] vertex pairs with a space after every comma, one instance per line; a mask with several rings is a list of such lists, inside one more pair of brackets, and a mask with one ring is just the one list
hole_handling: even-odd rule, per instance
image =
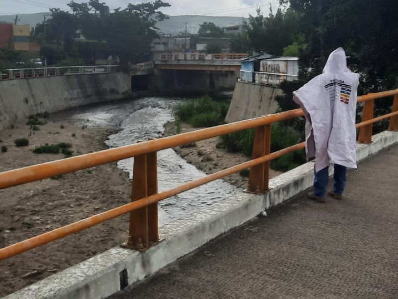
[[0, 71], [1, 80], [42, 78], [52, 76], [85, 75], [85, 74], [108, 74], [119, 70], [118, 65], [79, 65], [79, 66], [56, 66], [37, 67], [28, 69], [7, 69]]

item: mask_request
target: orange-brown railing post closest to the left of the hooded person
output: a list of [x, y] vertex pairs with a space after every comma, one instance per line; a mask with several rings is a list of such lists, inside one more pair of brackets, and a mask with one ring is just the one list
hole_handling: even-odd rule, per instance
[[[252, 159], [265, 156], [271, 152], [271, 125], [256, 128]], [[268, 190], [270, 162], [256, 165], [250, 169], [248, 191], [265, 193]]]

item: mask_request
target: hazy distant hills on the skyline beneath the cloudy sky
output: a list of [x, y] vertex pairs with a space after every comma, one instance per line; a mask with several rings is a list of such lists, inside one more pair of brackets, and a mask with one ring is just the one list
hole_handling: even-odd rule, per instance
[[[46, 18], [51, 17], [49, 12], [18, 14], [19, 20], [17, 24], [29, 24], [30, 27], [34, 27], [36, 24], [44, 21], [45, 14], [47, 15]], [[13, 23], [14, 18], [15, 14], [0, 15], [0, 22]], [[185, 24], [187, 23], [187, 32], [193, 34], [198, 32], [199, 26], [203, 24], [203, 22], [213, 22], [217, 26], [226, 27], [242, 24], [243, 21], [243, 18], [234, 16], [176, 15], [159, 22], [157, 26], [160, 33], [179, 34], [185, 33]]]

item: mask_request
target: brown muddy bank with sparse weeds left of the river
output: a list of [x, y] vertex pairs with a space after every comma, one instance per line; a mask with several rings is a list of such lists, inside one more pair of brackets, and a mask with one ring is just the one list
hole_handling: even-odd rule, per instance
[[[7, 147], [0, 152], [0, 171], [65, 156], [31, 151], [46, 143], [70, 143], [74, 155], [104, 149], [106, 136], [114, 132], [82, 129], [57, 119], [32, 131], [25, 122], [0, 132], [0, 148]], [[15, 147], [17, 138], [27, 138], [29, 145]], [[0, 190], [0, 247], [127, 203], [130, 189], [126, 173], [111, 163]], [[122, 216], [2, 261], [0, 297], [118, 246], [127, 234], [128, 216]]]

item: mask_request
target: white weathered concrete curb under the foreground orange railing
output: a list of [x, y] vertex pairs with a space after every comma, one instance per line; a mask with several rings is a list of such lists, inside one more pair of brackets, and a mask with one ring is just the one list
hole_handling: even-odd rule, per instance
[[[358, 161], [398, 143], [398, 132], [383, 132], [371, 145], [358, 145]], [[161, 227], [165, 241], [144, 253], [112, 248], [4, 299], [98, 299], [132, 285], [211, 239], [237, 227], [271, 206], [312, 186], [313, 163], [303, 164], [270, 180], [266, 195], [239, 193], [187, 219]]]

